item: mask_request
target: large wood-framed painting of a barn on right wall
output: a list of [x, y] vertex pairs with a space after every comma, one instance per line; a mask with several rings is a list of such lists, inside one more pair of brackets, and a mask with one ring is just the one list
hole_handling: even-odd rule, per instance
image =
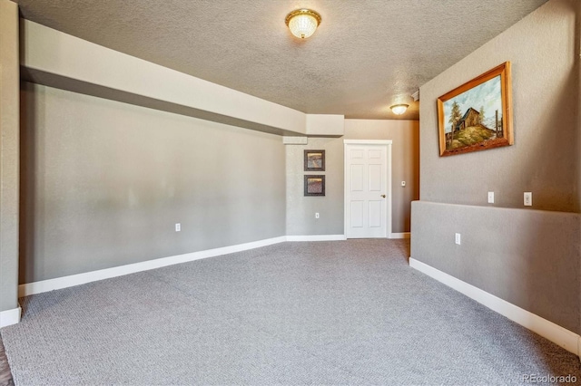
[[439, 155], [513, 144], [510, 62], [438, 98]]

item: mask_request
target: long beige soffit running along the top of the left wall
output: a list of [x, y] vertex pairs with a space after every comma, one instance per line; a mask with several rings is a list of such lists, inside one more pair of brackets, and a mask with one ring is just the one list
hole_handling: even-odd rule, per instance
[[306, 114], [183, 72], [22, 21], [26, 79], [224, 124], [306, 133]]

